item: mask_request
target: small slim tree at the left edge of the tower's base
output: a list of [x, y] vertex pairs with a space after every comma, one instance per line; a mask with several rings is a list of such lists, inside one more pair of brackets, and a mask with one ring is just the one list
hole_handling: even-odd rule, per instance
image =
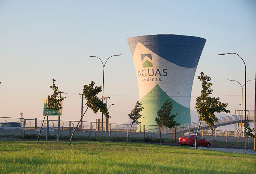
[[[140, 117], [142, 117], [142, 114], [140, 114], [140, 112], [143, 110], [144, 108], [142, 107], [141, 105], [141, 102], [137, 101], [135, 107], [133, 108], [133, 110], [131, 110], [130, 114], [128, 114], [128, 117], [130, 119], [132, 119], [132, 122], [131, 122], [131, 127], [132, 127], [132, 124], [135, 123], [135, 124], [140, 124], [141, 122], [138, 121], [138, 119]], [[131, 128], [130, 128], [130, 131], [128, 133], [128, 136], [127, 136], [127, 144], [128, 144], [128, 141], [129, 141], [129, 134], [131, 132]]]

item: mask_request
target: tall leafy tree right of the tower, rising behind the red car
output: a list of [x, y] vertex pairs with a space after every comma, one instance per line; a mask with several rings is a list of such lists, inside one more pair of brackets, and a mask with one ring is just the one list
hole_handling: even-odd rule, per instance
[[219, 97], [210, 97], [209, 95], [213, 92], [213, 89], [211, 89], [212, 83], [211, 77], [204, 75], [203, 72], [201, 72], [200, 76], [197, 76], [199, 81], [202, 82], [202, 90], [201, 90], [201, 96], [197, 97], [196, 99], [196, 110], [198, 113], [199, 118], [199, 126], [196, 133], [196, 142], [195, 142], [195, 148], [197, 149], [197, 134], [198, 130], [200, 128], [201, 122], [205, 121], [206, 124], [209, 125], [210, 129], [213, 130], [214, 122], [218, 123], [218, 118], [215, 116], [215, 112], [221, 113], [226, 112], [230, 113], [229, 110], [226, 110], [226, 107], [228, 106], [228, 103], [221, 103], [219, 101]]

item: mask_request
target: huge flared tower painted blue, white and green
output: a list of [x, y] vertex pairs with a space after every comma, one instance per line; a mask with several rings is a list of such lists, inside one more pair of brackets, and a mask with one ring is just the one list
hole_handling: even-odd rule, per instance
[[157, 111], [167, 99], [173, 102], [175, 121], [191, 122], [193, 79], [204, 44], [203, 38], [157, 34], [127, 39], [144, 110], [141, 125], [157, 125]]

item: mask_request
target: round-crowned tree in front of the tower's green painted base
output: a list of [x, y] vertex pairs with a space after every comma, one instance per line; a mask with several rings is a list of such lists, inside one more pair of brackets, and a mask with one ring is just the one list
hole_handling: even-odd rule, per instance
[[180, 124], [174, 121], [174, 118], [177, 116], [177, 114], [171, 115], [172, 110], [172, 102], [169, 102], [169, 99], [167, 99], [163, 105], [161, 106], [160, 110], [157, 111], [158, 117], [156, 117], [156, 122], [158, 126], [160, 127], [160, 145], [161, 143], [161, 132], [162, 132], [162, 126], [166, 126], [168, 128], [173, 128], [174, 126], [179, 126]]

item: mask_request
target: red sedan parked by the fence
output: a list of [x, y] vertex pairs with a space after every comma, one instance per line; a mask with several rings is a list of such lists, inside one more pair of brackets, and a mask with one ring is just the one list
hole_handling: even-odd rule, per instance
[[[179, 138], [179, 144], [181, 145], [190, 145], [196, 146], [196, 135], [184, 135]], [[206, 140], [204, 137], [197, 135], [197, 146], [210, 147], [212, 144], [209, 140]]]

